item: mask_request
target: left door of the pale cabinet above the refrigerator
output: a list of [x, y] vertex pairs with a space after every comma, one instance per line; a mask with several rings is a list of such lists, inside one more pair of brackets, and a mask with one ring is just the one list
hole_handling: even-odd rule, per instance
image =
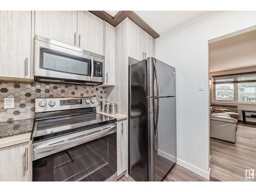
[[144, 31], [129, 20], [129, 56], [137, 59], [143, 59], [144, 52]]

